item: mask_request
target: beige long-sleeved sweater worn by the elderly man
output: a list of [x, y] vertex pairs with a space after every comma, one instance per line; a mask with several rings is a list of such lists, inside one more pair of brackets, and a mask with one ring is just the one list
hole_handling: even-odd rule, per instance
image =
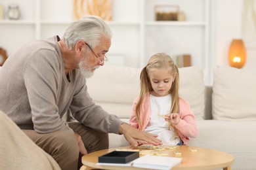
[[0, 110], [21, 129], [38, 133], [69, 129], [61, 119], [68, 109], [87, 127], [118, 133], [121, 120], [95, 105], [79, 70], [69, 74], [70, 81], [56, 36], [25, 44], [1, 68]]

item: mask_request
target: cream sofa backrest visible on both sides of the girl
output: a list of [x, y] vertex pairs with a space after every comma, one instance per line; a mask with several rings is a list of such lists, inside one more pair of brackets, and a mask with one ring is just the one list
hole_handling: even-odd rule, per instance
[[[133, 101], [140, 93], [141, 69], [104, 66], [87, 79], [88, 92], [95, 103], [110, 114], [129, 119]], [[180, 96], [190, 103], [196, 119], [203, 119], [205, 86], [203, 71], [198, 67], [184, 67], [180, 73]]]

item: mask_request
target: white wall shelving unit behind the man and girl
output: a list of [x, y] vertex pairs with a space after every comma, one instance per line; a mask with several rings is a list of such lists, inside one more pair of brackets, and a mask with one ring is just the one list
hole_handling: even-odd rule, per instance
[[[5, 9], [9, 0], [2, 0]], [[0, 42], [9, 54], [24, 42], [47, 39], [64, 34], [74, 22], [74, 0], [19, 0], [20, 20], [0, 20]], [[112, 0], [112, 46], [108, 52], [114, 60], [121, 56], [123, 66], [144, 67], [148, 58], [166, 52], [175, 60], [179, 54], [191, 54], [192, 65], [205, 72], [209, 63], [210, 0]], [[61, 8], [58, 6], [61, 4]], [[156, 21], [156, 5], [177, 5], [186, 14], [186, 21]], [[129, 12], [127, 12], [129, 11]], [[22, 31], [20, 31], [22, 30]], [[20, 34], [22, 32], [22, 34]]]

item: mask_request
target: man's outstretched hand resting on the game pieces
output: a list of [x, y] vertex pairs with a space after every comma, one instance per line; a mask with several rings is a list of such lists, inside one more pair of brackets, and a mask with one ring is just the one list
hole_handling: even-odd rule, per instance
[[154, 144], [160, 145], [161, 140], [157, 139], [158, 135], [154, 135], [151, 133], [144, 133], [135, 127], [130, 126], [129, 124], [121, 124], [119, 127], [119, 133], [125, 136], [125, 139], [132, 145], [132, 146], [139, 146], [140, 144]]

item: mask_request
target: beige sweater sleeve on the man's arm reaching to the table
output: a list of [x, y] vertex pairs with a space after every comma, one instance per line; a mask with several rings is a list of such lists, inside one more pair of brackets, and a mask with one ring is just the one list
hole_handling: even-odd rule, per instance
[[123, 123], [116, 115], [110, 114], [96, 105], [87, 92], [86, 80], [77, 78], [78, 88], [70, 105], [70, 110], [74, 118], [87, 127], [104, 131], [107, 133], [119, 134], [119, 126]]

